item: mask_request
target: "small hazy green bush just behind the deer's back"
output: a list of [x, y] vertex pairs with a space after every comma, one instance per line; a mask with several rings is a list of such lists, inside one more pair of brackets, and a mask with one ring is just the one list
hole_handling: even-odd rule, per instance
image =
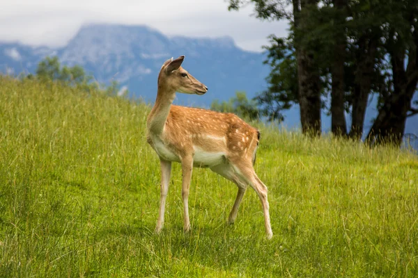
[[217, 99], [212, 101], [210, 109], [225, 113], [234, 113], [248, 120], [258, 120], [260, 112], [254, 99], [247, 99], [245, 92], [235, 92], [235, 97], [229, 101], [219, 103]]

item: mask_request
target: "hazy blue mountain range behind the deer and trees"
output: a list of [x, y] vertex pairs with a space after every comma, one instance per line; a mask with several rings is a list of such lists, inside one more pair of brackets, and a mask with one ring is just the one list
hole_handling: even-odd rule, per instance
[[[185, 55], [185, 69], [208, 86], [206, 95], [178, 94], [176, 103], [210, 106], [214, 99], [226, 100], [236, 91], [254, 97], [267, 88], [270, 67], [263, 64], [265, 54], [244, 51], [232, 38], [167, 37], [147, 26], [92, 24], [82, 27], [65, 47], [31, 47], [0, 42], [0, 72], [34, 72], [45, 56], [58, 56], [65, 65], [81, 65], [101, 83], [116, 80], [126, 85], [130, 97], [155, 100], [157, 74], [168, 58]], [[418, 98], [418, 96], [417, 96]], [[298, 108], [286, 112], [284, 124], [299, 126]], [[365, 126], [376, 111], [369, 109]], [[330, 117], [323, 114], [323, 129], [330, 129]], [[407, 122], [407, 133], [418, 134], [418, 115]]]

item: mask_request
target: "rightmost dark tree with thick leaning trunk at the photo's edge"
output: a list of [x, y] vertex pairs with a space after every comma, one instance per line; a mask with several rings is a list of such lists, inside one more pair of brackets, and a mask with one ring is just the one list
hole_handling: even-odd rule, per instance
[[418, 114], [418, 107], [412, 104], [418, 83], [418, 1], [387, 1], [386, 5], [381, 8], [387, 8], [391, 16], [382, 31], [392, 74], [383, 83], [385, 95], [380, 95], [378, 117], [367, 139], [400, 145], [406, 119]]

